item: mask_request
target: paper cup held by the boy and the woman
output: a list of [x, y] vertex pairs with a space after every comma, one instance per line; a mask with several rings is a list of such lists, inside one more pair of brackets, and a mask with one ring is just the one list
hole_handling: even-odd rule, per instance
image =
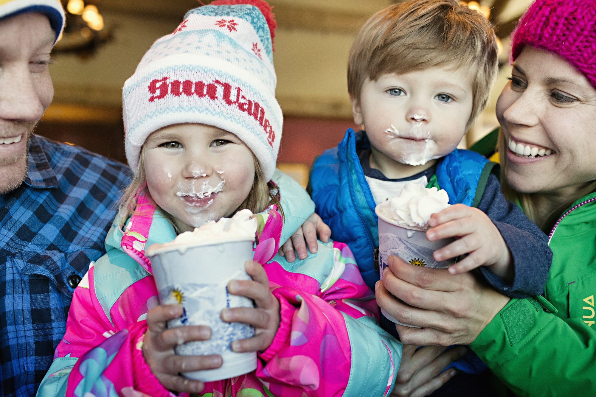
[[[378, 204], [375, 208], [378, 216], [378, 263], [381, 280], [383, 280], [383, 270], [387, 267], [387, 259], [391, 255], [399, 256], [414, 266], [434, 269], [448, 268], [456, 262], [456, 259], [437, 261], [433, 258], [434, 251], [454, 241], [453, 238], [429, 241], [426, 238], [426, 231], [403, 228], [393, 219], [388, 218], [384, 211], [387, 204], [383, 204], [385, 203]], [[415, 327], [415, 325], [402, 324], [383, 309], [381, 313], [397, 324]]]

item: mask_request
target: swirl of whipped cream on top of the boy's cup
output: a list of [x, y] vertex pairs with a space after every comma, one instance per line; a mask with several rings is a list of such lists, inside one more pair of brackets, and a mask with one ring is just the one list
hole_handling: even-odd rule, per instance
[[430, 215], [449, 207], [445, 190], [426, 188], [421, 184], [406, 184], [398, 197], [379, 204], [381, 213], [406, 229], [426, 230]]

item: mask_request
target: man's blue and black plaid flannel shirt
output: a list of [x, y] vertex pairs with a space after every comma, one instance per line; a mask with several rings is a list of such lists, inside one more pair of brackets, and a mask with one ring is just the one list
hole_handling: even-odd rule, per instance
[[129, 182], [122, 163], [33, 135], [24, 183], [0, 195], [0, 395], [35, 394]]

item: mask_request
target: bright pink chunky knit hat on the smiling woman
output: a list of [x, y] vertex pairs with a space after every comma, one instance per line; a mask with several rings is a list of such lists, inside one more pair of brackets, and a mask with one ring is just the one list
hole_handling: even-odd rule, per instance
[[512, 34], [511, 59], [524, 45], [544, 49], [575, 66], [596, 87], [596, 1], [536, 0]]

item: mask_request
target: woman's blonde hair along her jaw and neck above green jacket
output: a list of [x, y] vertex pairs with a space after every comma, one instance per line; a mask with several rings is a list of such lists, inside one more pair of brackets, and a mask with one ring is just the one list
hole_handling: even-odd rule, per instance
[[[538, 212], [536, 211], [538, 203], [536, 202], [537, 194], [536, 193], [519, 193], [513, 187], [511, 187], [507, 183], [507, 144], [505, 144], [505, 137], [502, 131], [499, 131], [499, 141], [498, 141], [498, 151], [499, 151], [499, 163], [501, 163], [501, 191], [503, 192], [505, 198], [509, 201], [513, 201], [513, 203], [519, 203], [522, 206], [523, 212], [526, 216], [530, 219], [530, 221], [534, 222], [542, 231], [548, 233], [550, 228], [554, 223], [557, 221], [558, 217], [561, 213], [566, 210], [575, 200], [585, 196], [586, 194], [592, 193], [596, 191], [596, 180], [586, 182], [586, 184], [578, 191], [578, 193], [574, 194], [573, 196], [569, 197], [568, 200], [561, 203], [558, 207], [556, 207], [548, 216], [541, 221], [538, 218]], [[539, 224], [541, 222], [541, 224]]]

